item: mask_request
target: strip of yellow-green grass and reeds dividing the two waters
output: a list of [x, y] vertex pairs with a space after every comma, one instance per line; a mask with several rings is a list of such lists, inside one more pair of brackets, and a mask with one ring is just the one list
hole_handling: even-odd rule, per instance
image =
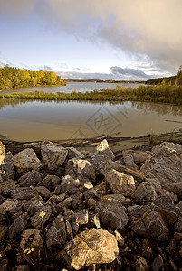
[[80, 100], [80, 101], [152, 101], [182, 105], [182, 86], [139, 86], [136, 89], [117, 86], [116, 89], [95, 89], [91, 93], [50, 93], [43, 91], [0, 95], [0, 98], [33, 100]]

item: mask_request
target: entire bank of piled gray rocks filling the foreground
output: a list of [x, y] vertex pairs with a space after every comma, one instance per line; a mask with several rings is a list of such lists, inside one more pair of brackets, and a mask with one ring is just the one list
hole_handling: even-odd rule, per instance
[[0, 270], [182, 270], [182, 146], [0, 143]]

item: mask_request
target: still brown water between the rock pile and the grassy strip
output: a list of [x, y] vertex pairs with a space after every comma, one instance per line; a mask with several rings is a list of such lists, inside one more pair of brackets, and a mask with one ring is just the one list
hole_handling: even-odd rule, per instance
[[152, 131], [157, 134], [172, 132], [181, 127], [181, 106], [0, 99], [0, 136], [18, 141], [113, 134], [140, 136], [150, 135]]

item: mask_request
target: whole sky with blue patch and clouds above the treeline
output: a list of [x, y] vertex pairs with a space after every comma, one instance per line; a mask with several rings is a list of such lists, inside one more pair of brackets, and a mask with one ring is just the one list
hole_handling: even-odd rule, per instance
[[0, 67], [146, 80], [182, 64], [181, 0], [0, 0]]

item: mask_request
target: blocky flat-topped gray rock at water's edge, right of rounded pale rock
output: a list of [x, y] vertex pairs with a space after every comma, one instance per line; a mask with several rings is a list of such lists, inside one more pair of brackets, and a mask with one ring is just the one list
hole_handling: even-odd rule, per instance
[[62, 147], [62, 145], [45, 144], [41, 146], [41, 154], [43, 164], [63, 164], [68, 150]]

